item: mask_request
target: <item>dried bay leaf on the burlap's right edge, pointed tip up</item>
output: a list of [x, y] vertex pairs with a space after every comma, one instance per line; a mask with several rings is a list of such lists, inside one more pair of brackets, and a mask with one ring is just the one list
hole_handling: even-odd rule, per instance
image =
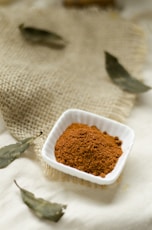
[[152, 89], [152, 87], [149, 87], [132, 77], [131, 74], [119, 63], [115, 56], [105, 52], [105, 59], [106, 70], [109, 77], [113, 83], [119, 86], [122, 90], [138, 94]]

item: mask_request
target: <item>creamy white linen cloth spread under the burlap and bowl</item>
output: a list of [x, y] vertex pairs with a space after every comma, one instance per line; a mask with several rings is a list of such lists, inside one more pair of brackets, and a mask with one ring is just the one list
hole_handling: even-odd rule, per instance
[[[137, 1], [136, 1], [137, 2]], [[148, 2], [148, 1], [147, 1]], [[149, 1], [150, 2], [150, 1]], [[125, 1], [122, 15], [134, 18], [142, 12]], [[135, 3], [134, 3], [135, 4]], [[151, 4], [152, 6], [152, 4]], [[139, 10], [138, 10], [139, 9]], [[143, 10], [145, 10], [143, 8]], [[147, 34], [149, 56], [143, 71], [144, 82], [152, 85], [152, 21], [138, 20]], [[148, 24], [147, 24], [148, 23]], [[148, 25], [148, 26], [147, 26]], [[150, 44], [151, 42], [151, 44]], [[135, 131], [135, 143], [121, 183], [91, 188], [67, 182], [52, 182], [44, 177], [38, 162], [20, 158], [0, 170], [0, 229], [4, 230], [151, 230], [152, 229], [152, 90], [138, 96], [127, 125]], [[1, 119], [0, 145], [15, 142]], [[67, 204], [58, 223], [40, 220], [22, 202], [13, 180], [37, 197]], [[107, 199], [107, 197], [110, 199]]]

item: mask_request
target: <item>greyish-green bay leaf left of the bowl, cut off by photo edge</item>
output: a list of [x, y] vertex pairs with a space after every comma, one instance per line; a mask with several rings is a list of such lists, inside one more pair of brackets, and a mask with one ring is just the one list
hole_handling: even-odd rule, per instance
[[[42, 133], [40, 133], [40, 135], [41, 134]], [[28, 137], [15, 144], [10, 144], [2, 147], [0, 149], [0, 168], [8, 166], [16, 158], [19, 158], [20, 155], [25, 152], [26, 149], [28, 149], [31, 143], [33, 143], [35, 138], [37, 137]]]

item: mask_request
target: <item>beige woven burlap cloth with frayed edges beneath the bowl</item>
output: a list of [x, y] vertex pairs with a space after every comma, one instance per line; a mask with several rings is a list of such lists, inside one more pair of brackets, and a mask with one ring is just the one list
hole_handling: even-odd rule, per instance
[[[44, 2], [43, 2], [44, 3]], [[63, 36], [63, 50], [27, 43], [18, 25], [40, 27]], [[145, 57], [142, 32], [113, 11], [74, 10], [61, 5], [20, 1], [0, 9], [0, 108], [17, 139], [43, 131], [42, 145], [68, 108], [79, 108], [125, 122], [135, 96], [113, 85], [105, 70], [104, 50], [139, 77]], [[46, 175], [72, 179], [41, 161]], [[79, 180], [80, 181], [80, 180]]]

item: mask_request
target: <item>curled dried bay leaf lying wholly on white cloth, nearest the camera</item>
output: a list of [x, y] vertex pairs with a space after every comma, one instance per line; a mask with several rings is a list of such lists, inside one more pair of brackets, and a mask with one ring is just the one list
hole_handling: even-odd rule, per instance
[[16, 181], [14, 181], [20, 189], [24, 203], [35, 213], [35, 215], [42, 219], [58, 222], [64, 215], [66, 205], [52, 203], [42, 198], [36, 198], [35, 195], [23, 188], [21, 188]]

